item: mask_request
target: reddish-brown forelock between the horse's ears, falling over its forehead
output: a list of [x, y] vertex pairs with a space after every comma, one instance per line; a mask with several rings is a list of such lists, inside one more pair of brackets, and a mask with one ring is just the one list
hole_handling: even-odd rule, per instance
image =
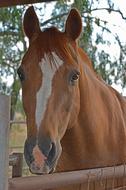
[[50, 64], [55, 64], [52, 52], [55, 52], [61, 59], [77, 61], [77, 53], [71, 46], [69, 38], [66, 37], [64, 32], [59, 31], [56, 27], [45, 28], [37, 42], [39, 43], [40, 55], [42, 52], [47, 53], [51, 60]]

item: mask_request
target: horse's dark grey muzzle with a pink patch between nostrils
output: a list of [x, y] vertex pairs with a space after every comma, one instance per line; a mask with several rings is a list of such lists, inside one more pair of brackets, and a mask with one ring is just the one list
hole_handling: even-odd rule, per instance
[[[46, 139], [45, 139], [46, 140]], [[48, 174], [55, 170], [62, 149], [60, 142], [38, 141], [38, 144], [26, 140], [24, 155], [31, 173]]]

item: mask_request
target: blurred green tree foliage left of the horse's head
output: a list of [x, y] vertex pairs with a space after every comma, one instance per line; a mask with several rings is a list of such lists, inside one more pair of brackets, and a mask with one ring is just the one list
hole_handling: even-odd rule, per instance
[[[17, 79], [17, 67], [26, 50], [26, 41], [22, 32], [22, 14], [24, 7], [2, 8], [0, 10], [0, 91], [11, 94], [11, 119], [14, 118], [15, 107], [20, 90]], [[20, 44], [20, 46], [19, 46]], [[8, 85], [7, 79], [12, 76]], [[4, 80], [6, 79], [6, 83]]]

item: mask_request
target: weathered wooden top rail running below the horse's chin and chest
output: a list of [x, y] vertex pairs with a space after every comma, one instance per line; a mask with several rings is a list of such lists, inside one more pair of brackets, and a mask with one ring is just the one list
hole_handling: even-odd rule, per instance
[[[55, 173], [9, 180], [9, 190], [56, 189], [62, 186], [92, 183], [106, 179], [124, 177], [124, 165], [90, 170]], [[124, 185], [124, 184], [123, 184]]]

